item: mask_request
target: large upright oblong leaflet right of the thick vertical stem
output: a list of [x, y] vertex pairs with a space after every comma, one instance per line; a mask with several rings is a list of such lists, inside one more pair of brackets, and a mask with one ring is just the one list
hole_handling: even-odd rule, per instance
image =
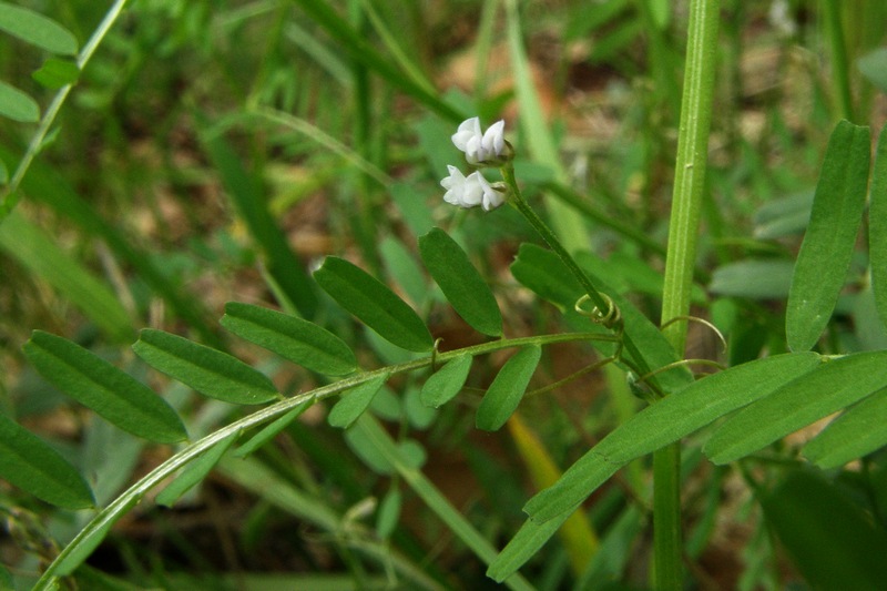
[[866, 202], [870, 150], [868, 128], [842, 121], [832, 133], [788, 292], [785, 333], [792, 350], [816, 345], [844, 287]]

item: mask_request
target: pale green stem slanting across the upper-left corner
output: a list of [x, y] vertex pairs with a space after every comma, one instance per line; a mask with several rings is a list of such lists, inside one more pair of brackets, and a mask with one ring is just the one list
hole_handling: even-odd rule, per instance
[[[104, 19], [102, 19], [102, 22], [99, 23], [99, 27], [92, 33], [90, 40], [86, 41], [86, 44], [80, 50], [80, 53], [77, 57], [77, 67], [81, 72], [83, 71], [83, 68], [86, 67], [86, 63], [89, 63], [92, 54], [95, 53], [99, 44], [111, 30], [111, 27], [113, 27], [114, 22], [116, 22], [118, 17], [120, 17], [120, 13], [123, 11], [123, 7], [125, 4], [126, 0], [118, 0], [114, 2], [114, 6], [112, 6], [111, 9], [109, 9], [109, 11], [105, 13]], [[24, 175], [28, 173], [28, 169], [31, 167], [31, 162], [33, 162], [33, 160], [37, 157], [37, 154], [43, 147], [43, 141], [47, 139], [47, 134], [49, 133], [50, 128], [52, 128], [52, 123], [55, 121], [55, 116], [59, 114], [59, 111], [61, 111], [61, 108], [64, 104], [65, 99], [68, 99], [68, 94], [71, 92], [72, 88], [74, 88], [73, 84], [65, 84], [59, 89], [59, 92], [57, 92], [55, 96], [52, 98], [52, 102], [43, 112], [43, 118], [40, 120], [40, 124], [31, 137], [31, 142], [28, 144], [28, 150], [24, 152], [19, 165], [16, 167], [12, 179], [10, 179], [9, 184], [3, 188], [2, 193], [0, 193], [0, 224], [3, 223], [3, 220], [7, 218], [12, 210], [16, 208], [16, 205], [18, 205], [19, 200], [21, 200], [19, 185], [24, 179]]]

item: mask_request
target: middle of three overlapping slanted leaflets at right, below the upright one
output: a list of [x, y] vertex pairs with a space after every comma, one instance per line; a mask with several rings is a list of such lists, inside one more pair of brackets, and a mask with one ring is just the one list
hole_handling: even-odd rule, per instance
[[812, 422], [887, 388], [887, 350], [823, 364], [727, 420], [703, 448], [715, 463], [757, 451]]

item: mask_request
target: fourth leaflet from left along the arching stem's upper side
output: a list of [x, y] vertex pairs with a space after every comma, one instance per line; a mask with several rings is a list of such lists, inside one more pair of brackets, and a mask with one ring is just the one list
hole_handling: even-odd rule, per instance
[[344, 376], [357, 359], [339, 337], [314, 323], [273, 309], [230, 302], [222, 326], [284, 359], [326, 376]]

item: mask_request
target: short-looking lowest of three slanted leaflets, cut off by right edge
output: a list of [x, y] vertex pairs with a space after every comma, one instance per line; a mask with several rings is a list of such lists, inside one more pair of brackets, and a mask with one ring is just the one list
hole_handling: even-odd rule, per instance
[[874, 394], [832, 421], [804, 455], [828, 470], [887, 446], [887, 389]]

